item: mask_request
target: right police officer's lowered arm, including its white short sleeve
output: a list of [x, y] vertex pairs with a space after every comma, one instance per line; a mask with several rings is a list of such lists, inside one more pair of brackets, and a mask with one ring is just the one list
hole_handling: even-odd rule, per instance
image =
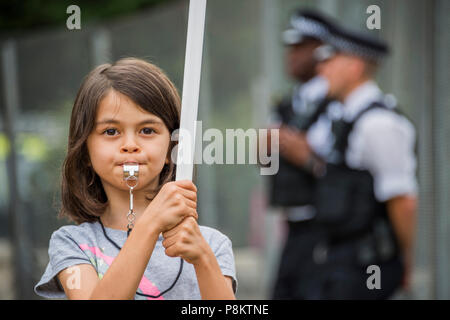
[[361, 123], [364, 119], [360, 121], [359, 132], [364, 142], [362, 159], [374, 176], [377, 199], [387, 204], [405, 262], [404, 285], [408, 287], [417, 208], [415, 131], [391, 112], [373, 112], [375, 115], [367, 116], [365, 123]]

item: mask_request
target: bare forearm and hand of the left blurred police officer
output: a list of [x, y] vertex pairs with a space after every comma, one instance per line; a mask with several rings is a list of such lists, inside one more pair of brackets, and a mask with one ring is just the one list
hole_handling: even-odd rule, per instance
[[279, 132], [280, 154], [292, 164], [303, 167], [311, 156], [306, 135], [298, 130], [281, 126]]

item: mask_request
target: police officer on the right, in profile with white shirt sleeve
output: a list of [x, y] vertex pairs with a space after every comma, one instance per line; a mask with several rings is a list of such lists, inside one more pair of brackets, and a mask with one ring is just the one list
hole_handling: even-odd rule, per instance
[[408, 287], [416, 211], [415, 130], [374, 81], [387, 45], [330, 29], [316, 49], [327, 96], [343, 104], [316, 183], [311, 298], [386, 299]]

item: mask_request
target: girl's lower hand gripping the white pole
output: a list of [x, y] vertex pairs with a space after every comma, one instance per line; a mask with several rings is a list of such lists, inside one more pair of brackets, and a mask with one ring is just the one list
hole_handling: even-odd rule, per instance
[[205, 254], [212, 252], [203, 235], [197, 221], [188, 217], [172, 230], [163, 233], [162, 245], [166, 248], [169, 257], [181, 257], [187, 262], [196, 265], [201, 262]]

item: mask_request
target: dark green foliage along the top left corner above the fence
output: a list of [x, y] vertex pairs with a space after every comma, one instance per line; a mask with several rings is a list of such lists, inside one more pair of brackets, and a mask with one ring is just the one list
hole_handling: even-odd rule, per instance
[[0, 30], [27, 30], [64, 24], [69, 5], [78, 5], [83, 22], [113, 18], [174, 0], [1, 0]]

